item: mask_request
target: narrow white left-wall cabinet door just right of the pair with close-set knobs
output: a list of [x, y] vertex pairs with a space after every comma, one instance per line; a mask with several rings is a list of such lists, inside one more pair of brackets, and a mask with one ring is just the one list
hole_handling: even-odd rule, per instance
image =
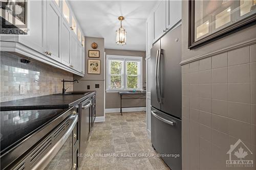
[[61, 63], [70, 66], [70, 27], [63, 18], [61, 21]]

